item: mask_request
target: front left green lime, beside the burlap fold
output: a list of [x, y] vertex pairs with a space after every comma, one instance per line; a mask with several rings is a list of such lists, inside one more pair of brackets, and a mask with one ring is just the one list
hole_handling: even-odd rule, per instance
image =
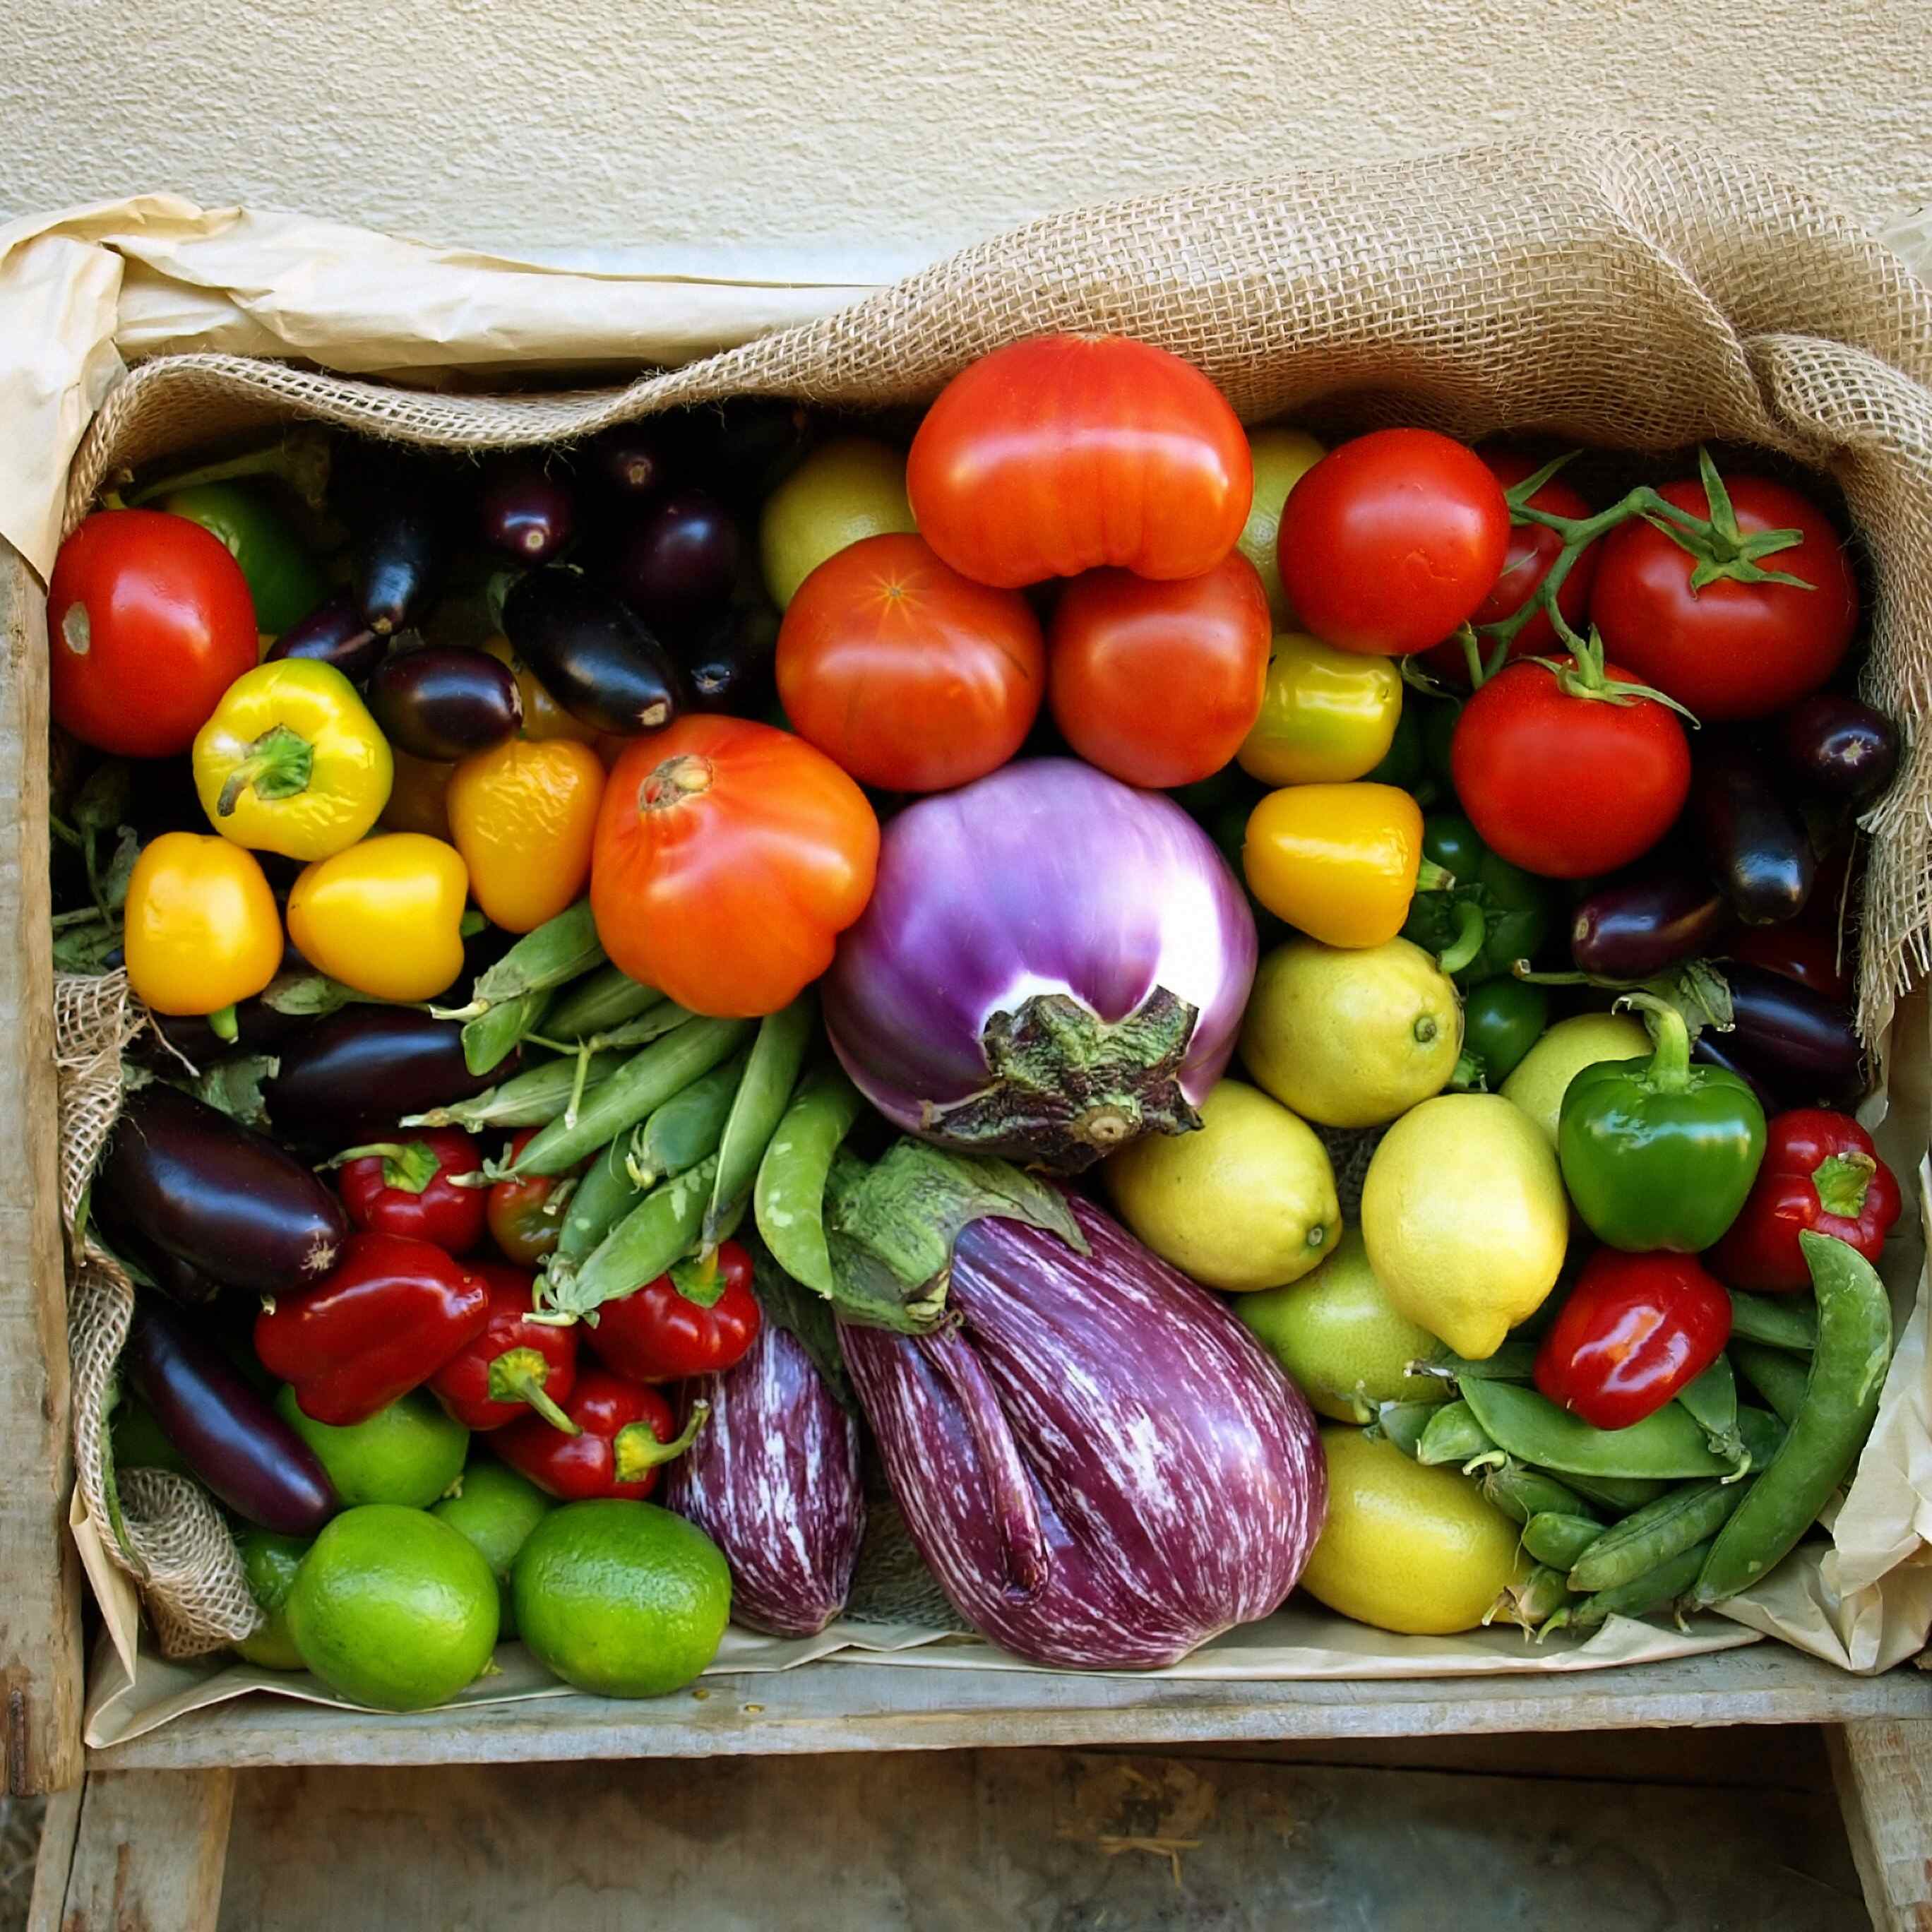
[[446, 1704], [497, 1648], [497, 1578], [421, 1509], [365, 1503], [330, 1522], [288, 1592], [301, 1662], [377, 1710]]

